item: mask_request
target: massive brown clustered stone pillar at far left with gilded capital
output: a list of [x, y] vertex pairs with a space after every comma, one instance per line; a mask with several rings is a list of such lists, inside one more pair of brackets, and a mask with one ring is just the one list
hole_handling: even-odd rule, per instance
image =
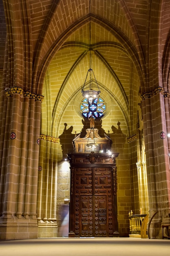
[[37, 238], [42, 99], [20, 87], [12, 87], [7, 95], [4, 94], [0, 141], [0, 239]]

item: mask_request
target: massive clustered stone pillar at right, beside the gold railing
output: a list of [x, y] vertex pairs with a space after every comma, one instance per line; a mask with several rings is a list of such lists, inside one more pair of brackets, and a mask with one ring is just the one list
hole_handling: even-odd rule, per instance
[[[149, 195], [150, 238], [161, 238], [170, 211], [170, 165], [163, 88], [142, 96]], [[154, 218], [152, 218], [154, 216]]]

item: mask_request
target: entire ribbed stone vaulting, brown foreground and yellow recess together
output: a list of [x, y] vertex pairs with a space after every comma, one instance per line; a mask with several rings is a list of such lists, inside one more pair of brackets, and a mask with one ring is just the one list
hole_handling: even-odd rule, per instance
[[[166, 81], [170, 65], [170, 2], [91, 0], [90, 16], [89, 3], [89, 0], [16, 0], [13, 4], [3, 1], [6, 19], [4, 13], [1, 17], [2, 24], [7, 22], [9, 49], [20, 60], [18, 66], [11, 64], [14, 65], [11, 70], [16, 67], [24, 70], [17, 73], [21, 86], [45, 96], [42, 133], [58, 137], [64, 124], [73, 126], [73, 133], [80, 132], [79, 103], [89, 68], [91, 16], [92, 67], [107, 107], [102, 126], [110, 130], [120, 123], [121, 131], [131, 136], [136, 132], [140, 94], [153, 90], [162, 81], [164, 90], [169, 88]], [[3, 54], [4, 31], [5, 28], [0, 45]], [[20, 47], [14, 47], [15, 42]], [[24, 61], [27, 58], [29, 65]], [[15, 73], [11, 71], [9, 75], [9, 86], [16, 80]]]

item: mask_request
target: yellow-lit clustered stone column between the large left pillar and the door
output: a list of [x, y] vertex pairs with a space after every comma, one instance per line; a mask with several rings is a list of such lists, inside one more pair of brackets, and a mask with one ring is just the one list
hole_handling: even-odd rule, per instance
[[40, 135], [38, 237], [57, 236], [57, 149], [59, 139]]

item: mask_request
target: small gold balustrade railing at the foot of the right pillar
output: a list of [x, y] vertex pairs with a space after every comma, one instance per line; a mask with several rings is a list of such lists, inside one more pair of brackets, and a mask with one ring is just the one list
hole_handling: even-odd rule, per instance
[[147, 214], [132, 214], [129, 213], [129, 222], [130, 222], [130, 235], [148, 238], [147, 235], [147, 223], [148, 223], [148, 215]]

